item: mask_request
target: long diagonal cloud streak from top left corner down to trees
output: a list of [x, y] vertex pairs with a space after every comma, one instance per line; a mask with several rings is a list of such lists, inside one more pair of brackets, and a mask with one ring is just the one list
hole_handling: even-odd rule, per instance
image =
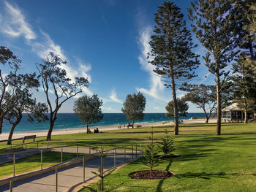
[[[10, 37], [24, 37], [27, 45], [31, 46], [31, 50], [37, 53], [40, 58], [46, 58], [49, 52], [53, 52], [59, 55], [60, 58], [68, 60], [61, 46], [57, 45], [45, 31], [39, 30], [39, 35], [33, 31], [18, 6], [12, 5], [7, 1], [4, 1], [4, 4], [7, 15], [0, 19], [1, 33], [7, 34]], [[67, 65], [62, 65], [61, 68], [67, 71], [67, 76], [72, 82], [78, 76], [87, 77], [89, 82], [91, 82], [91, 76], [88, 74], [91, 70], [91, 64], [84, 64], [79, 58], [75, 58], [75, 61], [78, 63], [78, 68], [75, 69], [73, 66], [70, 66], [70, 62]], [[89, 88], [84, 88], [83, 92], [89, 95], [93, 94]]]

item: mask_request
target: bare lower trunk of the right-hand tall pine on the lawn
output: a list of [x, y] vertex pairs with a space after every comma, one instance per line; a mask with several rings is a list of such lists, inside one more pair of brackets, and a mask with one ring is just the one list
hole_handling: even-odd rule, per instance
[[222, 100], [220, 96], [220, 80], [219, 80], [219, 70], [216, 74], [216, 93], [217, 93], [217, 135], [221, 134], [222, 126]]

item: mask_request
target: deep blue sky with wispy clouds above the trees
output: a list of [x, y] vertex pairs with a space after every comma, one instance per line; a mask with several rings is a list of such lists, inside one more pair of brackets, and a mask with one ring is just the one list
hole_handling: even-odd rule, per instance
[[[138, 91], [146, 96], [146, 112], [165, 112], [171, 90], [164, 87], [146, 59], [154, 13], [162, 2], [0, 0], [0, 45], [23, 61], [22, 72], [36, 72], [34, 64], [42, 63], [48, 51], [59, 54], [68, 61], [64, 69], [69, 77], [88, 77], [90, 86], [83, 94], [97, 93], [103, 112], [121, 112], [127, 94]], [[187, 20], [189, 1], [174, 2]], [[204, 50], [199, 46], [195, 52]], [[197, 74], [195, 83], [214, 83], [203, 61]], [[178, 91], [178, 96], [182, 94]], [[42, 92], [34, 92], [34, 97], [45, 101]], [[72, 112], [74, 101], [67, 101], [60, 112]], [[195, 105], [189, 106], [189, 112], [201, 112]]]

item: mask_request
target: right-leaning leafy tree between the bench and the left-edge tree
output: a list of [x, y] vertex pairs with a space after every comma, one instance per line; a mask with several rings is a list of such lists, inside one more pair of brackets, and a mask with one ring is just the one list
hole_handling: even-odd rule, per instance
[[31, 89], [39, 87], [39, 81], [37, 80], [36, 74], [20, 74], [19, 76], [23, 85], [10, 85], [11, 89], [15, 89], [16, 86], [18, 86], [18, 88], [16, 88], [15, 95], [11, 95], [10, 93], [5, 95], [5, 100], [8, 101], [7, 106], [10, 106], [12, 101], [17, 101], [15, 106], [12, 107], [4, 117], [12, 124], [7, 145], [12, 144], [12, 134], [14, 133], [15, 127], [23, 118], [23, 112], [28, 112], [27, 120], [30, 122], [33, 122], [34, 119], [38, 122], [48, 120], [48, 117], [45, 114], [48, 112], [46, 104], [37, 103], [36, 99], [31, 98]]

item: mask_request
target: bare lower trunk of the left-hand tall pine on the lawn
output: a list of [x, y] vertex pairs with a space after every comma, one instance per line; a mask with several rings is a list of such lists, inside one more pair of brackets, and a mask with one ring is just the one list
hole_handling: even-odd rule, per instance
[[174, 115], [174, 135], [178, 135], [178, 106], [176, 99], [176, 87], [173, 77], [173, 67], [170, 68], [171, 88], [173, 94], [173, 115]]

